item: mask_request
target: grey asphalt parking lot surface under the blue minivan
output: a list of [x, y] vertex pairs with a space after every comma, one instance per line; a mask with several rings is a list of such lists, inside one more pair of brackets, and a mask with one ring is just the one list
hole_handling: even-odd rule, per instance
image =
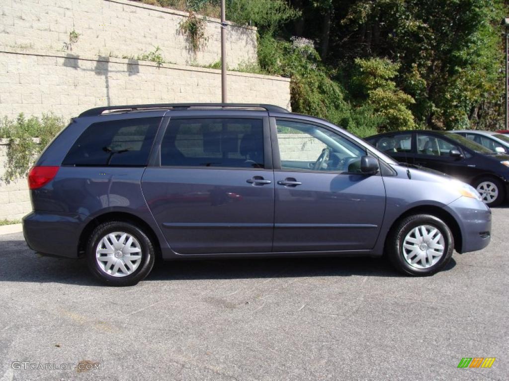
[[211, 260], [131, 288], [0, 236], [0, 380], [507, 379], [508, 229], [493, 209], [490, 246], [426, 278], [373, 258]]

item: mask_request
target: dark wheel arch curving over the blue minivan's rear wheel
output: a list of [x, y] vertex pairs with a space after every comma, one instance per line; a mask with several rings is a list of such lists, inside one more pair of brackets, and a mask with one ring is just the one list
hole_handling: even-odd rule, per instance
[[161, 246], [157, 235], [154, 230], [150, 227], [149, 224], [146, 223], [142, 218], [127, 212], [106, 212], [95, 216], [93, 219], [89, 221], [89, 223], [83, 228], [81, 234], [78, 239], [78, 256], [82, 257], [84, 255], [84, 251], [86, 249], [86, 244], [88, 237], [94, 231], [94, 229], [102, 223], [107, 221], [124, 221], [127, 223], [131, 223], [137, 225], [139, 228], [143, 229], [143, 231], [149, 236], [156, 251], [156, 257], [161, 257]]

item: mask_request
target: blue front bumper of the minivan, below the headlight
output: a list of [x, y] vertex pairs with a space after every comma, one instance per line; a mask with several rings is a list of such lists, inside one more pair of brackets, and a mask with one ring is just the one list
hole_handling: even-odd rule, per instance
[[462, 236], [460, 252], [484, 249], [490, 244], [491, 210], [483, 202], [460, 197], [445, 209], [456, 217], [460, 226]]

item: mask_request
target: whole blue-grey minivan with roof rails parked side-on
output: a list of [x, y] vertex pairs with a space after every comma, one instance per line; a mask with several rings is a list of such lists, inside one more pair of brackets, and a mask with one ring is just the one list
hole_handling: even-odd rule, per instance
[[271, 105], [100, 107], [29, 174], [29, 246], [133, 285], [155, 257], [382, 256], [409, 275], [490, 242], [470, 185]]

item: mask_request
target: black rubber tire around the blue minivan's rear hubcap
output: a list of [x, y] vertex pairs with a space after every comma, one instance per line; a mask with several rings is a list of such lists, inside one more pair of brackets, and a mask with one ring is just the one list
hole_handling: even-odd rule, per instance
[[[112, 276], [107, 274], [99, 265], [96, 258], [96, 248], [103, 237], [109, 233], [125, 232], [135, 238], [141, 249], [141, 260], [137, 268], [128, 275]], [[109, 221], [99, 225], [92, 232], [86, 249], [87, 265], [102, 283], [111, 286], [130, 286], [143, 280], [154, 266], [154, 246], [147, 234], [134, 224], [125, 221]], [[126, 267], [127, 268], [127, 267]]]

